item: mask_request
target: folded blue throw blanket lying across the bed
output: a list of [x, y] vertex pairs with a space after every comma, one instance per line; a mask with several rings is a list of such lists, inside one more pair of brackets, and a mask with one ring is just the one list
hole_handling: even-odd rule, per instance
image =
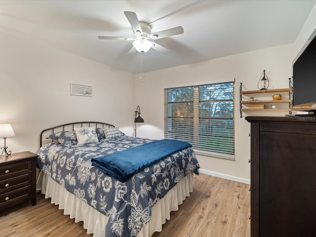
[[99, 158], [92, 158], [91, 161], [105, 174], [120, 182], [125, 182], [145, 167], [188, 147], [192, 147], [192, 145], [187, 142], [163, 139]]

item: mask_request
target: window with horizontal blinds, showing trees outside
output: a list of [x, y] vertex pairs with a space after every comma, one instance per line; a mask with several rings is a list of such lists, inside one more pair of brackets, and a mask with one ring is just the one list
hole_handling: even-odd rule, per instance
[[235, 159], [235, 82], [165, 89], [164, 137], [196, 153]]

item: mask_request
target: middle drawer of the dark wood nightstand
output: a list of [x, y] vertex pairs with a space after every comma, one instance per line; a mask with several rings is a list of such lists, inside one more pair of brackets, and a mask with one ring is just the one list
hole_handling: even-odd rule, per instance
[[31, 185], [32, 174], [23, 174], [17, 177], [0, 180], [0, 195]]

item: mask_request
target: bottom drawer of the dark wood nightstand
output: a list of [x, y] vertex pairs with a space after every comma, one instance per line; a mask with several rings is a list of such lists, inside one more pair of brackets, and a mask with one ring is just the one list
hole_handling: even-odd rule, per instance
[[13, 190], [0, 195], [0, 210], [16, 203], [30, 199], [31, 186]]

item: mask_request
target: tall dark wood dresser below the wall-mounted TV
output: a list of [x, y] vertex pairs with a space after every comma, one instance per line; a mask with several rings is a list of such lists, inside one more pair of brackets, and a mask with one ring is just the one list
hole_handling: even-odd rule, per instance
[[316, 117], [251, 123], [251, 237], [316, 236]]

